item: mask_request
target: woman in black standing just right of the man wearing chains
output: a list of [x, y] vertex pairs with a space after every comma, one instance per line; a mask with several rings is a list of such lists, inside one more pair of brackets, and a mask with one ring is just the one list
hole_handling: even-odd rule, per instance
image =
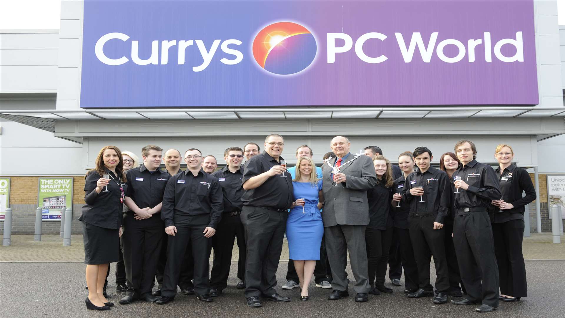
[[[379, 291], [392, 293], [392, 289], [385, 287], [384, 284], [394, 226], [392, 216], [390, 216], [393, 178], [392, 166], [383, 155], [376, 156], [373, 165], [379, 182], [374, 188], [367, 191], [369, 225], [365, 230], [365, 243], [369, 268], [368, 278], [371, 283], [369, 293], [379, 295]], [[373, 279], [375, 279], [374, 287]]]

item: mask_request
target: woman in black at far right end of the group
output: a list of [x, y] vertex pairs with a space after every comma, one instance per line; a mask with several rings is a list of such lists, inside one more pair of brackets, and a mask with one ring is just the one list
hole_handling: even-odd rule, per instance
[[[499, 144], [494, 156], [495, 170], [502, 191], [502, 200], [492, 201], [497, 208], [490, 213], [493, 228], [494, 252], [498, 263], [500, 292], [503, 302], [520, 301], [528, 296], [526, 269], [522, 255], [524, 237], [524, 206], [536, 199], [536, 190], [528, 172], [512, 164], [512, 147]], [[522, 192], [525, 196], [522, 197]]]

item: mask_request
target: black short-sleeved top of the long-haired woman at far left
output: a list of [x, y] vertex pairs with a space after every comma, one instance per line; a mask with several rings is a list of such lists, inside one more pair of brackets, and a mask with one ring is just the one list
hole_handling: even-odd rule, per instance
[[96, 170], [89, 171], [84, 181], [84, 202], [82, 205], [82, 215], [79, 221], [92, 224], [105, 229], [119, 229], [122, 219], [122, 204], [120, 203], [121, 190], [127, 191], [127, 183], [121, 183], [121, 174], [117, 176], [110, 170], [105, 170], [110, 174], [110, 183], [108, 184], [108, 191], [104, 192], [106, 188], [97, 194], [95, 191], [98, 179], [102, 178]]

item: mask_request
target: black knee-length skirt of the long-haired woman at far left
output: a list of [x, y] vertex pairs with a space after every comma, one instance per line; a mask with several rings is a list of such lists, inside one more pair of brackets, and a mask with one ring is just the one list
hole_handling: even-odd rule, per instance
[[108, 264], [120, 260], [118, 229], [106, 229], [82, 222], [84, 264]]

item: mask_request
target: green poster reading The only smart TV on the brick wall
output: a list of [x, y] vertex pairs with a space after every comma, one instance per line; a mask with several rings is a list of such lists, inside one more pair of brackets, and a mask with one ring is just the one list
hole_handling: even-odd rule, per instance
[[60, 221], [63, 208], [72, 206], [72, 178], [39, 178], [38, 207], [43, 221]]

